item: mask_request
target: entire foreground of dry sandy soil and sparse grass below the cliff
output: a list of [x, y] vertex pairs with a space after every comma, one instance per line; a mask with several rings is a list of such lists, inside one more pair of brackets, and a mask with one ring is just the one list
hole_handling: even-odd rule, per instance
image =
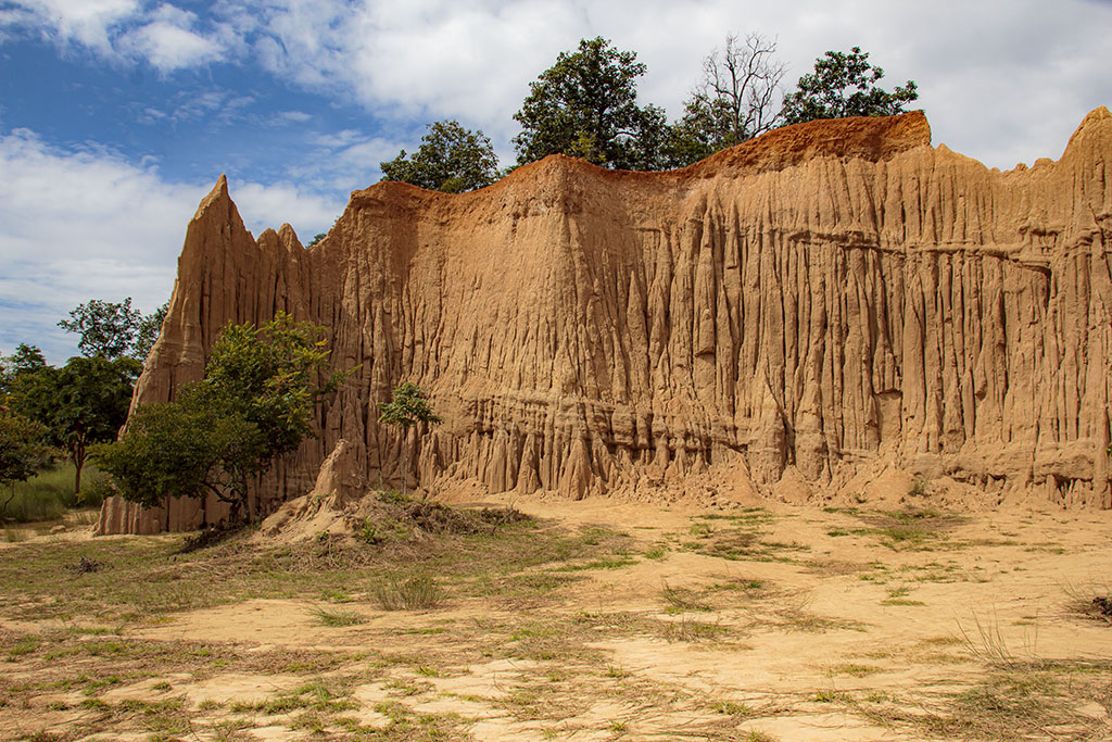
[[0, 739], [1112, 739], [1109, 513], [391, 506], [3, 544]]

